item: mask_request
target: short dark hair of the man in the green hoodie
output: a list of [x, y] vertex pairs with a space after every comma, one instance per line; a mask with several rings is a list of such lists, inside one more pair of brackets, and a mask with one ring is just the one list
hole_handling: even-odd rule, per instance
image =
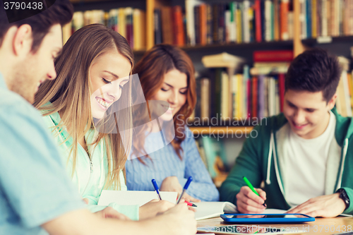
[[310, 49], [299, 54], [289, 66], [285, 90], [323, 92], [328, 102], [335, 95], [342, 69], [337, 56], [323, 49]]

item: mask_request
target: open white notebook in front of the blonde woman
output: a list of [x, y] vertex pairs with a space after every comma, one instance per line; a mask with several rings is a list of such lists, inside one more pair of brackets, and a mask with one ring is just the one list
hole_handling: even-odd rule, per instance
[[[177, 203], [177, 192], [160, 192], [163, 200]], [[100, 195], [98, 205], [109, 205], [109, 203], [119, 203], [119, 205], [144, 205], [152, 199], [158, 199], [155, 191], [113, 191], [103, 190]]]

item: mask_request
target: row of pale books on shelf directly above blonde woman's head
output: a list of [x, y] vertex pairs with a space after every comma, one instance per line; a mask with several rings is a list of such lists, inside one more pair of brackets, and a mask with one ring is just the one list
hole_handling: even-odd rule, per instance
[[63, 27], [63, 41], [65, 43], [73, 32], [85, 25], [101, 23], [125, 37], [133, 50], [143, 50], [146, 47], [145, 22], [145, 11], [138, 8], [76, 11], [71, 23]]

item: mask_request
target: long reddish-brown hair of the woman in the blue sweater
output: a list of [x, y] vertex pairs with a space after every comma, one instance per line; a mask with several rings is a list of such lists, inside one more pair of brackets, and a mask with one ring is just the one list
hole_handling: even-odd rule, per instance
[[[186, 138], [184, 133], [186, 119], [192, 114], [196, 104], [196, 81], [193, 62], [182, 49], [169, 44], [158, 44], [144, 54], [133, 69], [133, 74], [138, 74], [145, 100], [150, 100], [162, 88], [164, 75], [173, 69], [185, 73], [188, 83], [186, 102], [173, 117], [175, 138], [171, 144], [179, 158], [182, 159], [181, 143]], [[133, 142], [132, 154], [138, 156], [138, 153], [145, 153], [144, 144], [145, 139], [143, 138], [139, 139], [138, 143]], [[148, 157], [148, 155], [146, 156]], [[140, 157], [138, 159], [143, 162]]]

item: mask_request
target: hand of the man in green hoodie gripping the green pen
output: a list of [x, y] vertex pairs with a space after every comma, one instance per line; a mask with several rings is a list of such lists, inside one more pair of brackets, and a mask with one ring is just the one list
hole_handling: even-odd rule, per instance
[[258, 195], [253, 193], [248, 186], [240, 188], [237, 194], [237, 210], [244, 214], [256, 214], [265, 210], [263, 203], [266, 200], [266, 193], [261, 188], [255, 188]]

